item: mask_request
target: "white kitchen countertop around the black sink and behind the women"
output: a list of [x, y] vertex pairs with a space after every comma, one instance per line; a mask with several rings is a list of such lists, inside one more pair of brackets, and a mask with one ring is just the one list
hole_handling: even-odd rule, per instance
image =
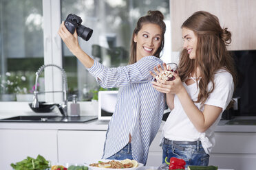
[[[19, 115], [39, 115], [34, 112], [0, 112], [0, 119]], [[43, 115], [58, 115], [47, 113]], [[237, 117], [236, 119], [248, 119], [248, 117]], [[250, 117], [255, 119], [255, 117]], [[215, 132], [256, 132], [256, 125], [226, 125], [226, 120], [221, 120]], [[162, 122], [162, 125], [164, 121]], [[162, 127], [161, 125], [161, 127]], [[160, 131], [161, 128], [160, 127]], [[0, 122], [0, 129], [36, 129], [36, 130], [107, 130], [107, 123], [99, 123], [98, 120], [85, 123], [21, 123], [21, 122]]]

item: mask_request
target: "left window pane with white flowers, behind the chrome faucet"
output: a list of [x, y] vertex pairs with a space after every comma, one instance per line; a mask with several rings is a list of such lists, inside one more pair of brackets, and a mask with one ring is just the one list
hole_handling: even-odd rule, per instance
[[0, 1], [0, 47], [0, 101], [14, 101], [31, 92], [43, 64], [41, 0]]

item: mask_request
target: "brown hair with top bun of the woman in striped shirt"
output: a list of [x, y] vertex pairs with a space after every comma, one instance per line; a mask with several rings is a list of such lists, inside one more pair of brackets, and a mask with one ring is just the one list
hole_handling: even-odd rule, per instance
[[140, 19], [137, 22], [136, 28], [134, 29], [134, 32], [131, 37], [131, 45], [130, 45], [130, 59], [129, 59], [129, 64], [134, 64], [136, 62], [136, 42], [134, 42], [134, 36], [138, 34], [140, 29], [142, 28], [143, 24], [145, 23], [153, 23], [156, 25], [159, 25], [162, 31], [162, 42], [154, 56], [160, 58], [160, 52], [164, 48], [164, 33], [165, 33], [165, 23], [163, 21], [164, 15], [162, 12], [156, 10], [156, 11], [151, 11], [149, 10], [147, 12], [146, 16], [140, 17]]

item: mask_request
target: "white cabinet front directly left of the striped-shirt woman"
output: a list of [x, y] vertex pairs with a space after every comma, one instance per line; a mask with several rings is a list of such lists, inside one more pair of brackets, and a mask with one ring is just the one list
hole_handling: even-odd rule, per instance
[[58, 162], [89, 163], [100, 160], [107, 131], [59, 130]]

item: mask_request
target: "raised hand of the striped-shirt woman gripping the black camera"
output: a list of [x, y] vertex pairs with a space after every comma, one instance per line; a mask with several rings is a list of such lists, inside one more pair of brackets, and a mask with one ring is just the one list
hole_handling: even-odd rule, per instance
[[74, 54], [78, 49], [80, 49], [80, 46], [78, 44], [78, 36], [76, 33], [76, 30], [74, 34], [71, 34], [67, 28], [64, 25], [64, 21], [61, 23], [61, 27], [58, 29], [58, 35], [61, 36], [61, 39], [63, 42], [65, 42], [65, 45], [68, 49]]

